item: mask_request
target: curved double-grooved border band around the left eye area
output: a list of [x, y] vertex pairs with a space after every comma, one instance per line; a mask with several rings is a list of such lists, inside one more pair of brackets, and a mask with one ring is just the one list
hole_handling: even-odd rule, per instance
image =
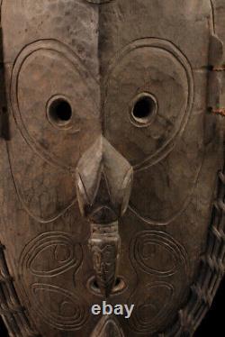
[[[31, 133], [31, 129], [28, 127], [27, 123], [24, 120], [23, 110], [21, 109], [20, 106], [20, 100], [18, 96], [20, 87], [19, 78], [23, 70], [23, 65], [25, 65], [26, 62], [29, 61], [30, 57], [34, 55], [34, 53], [42, 51], [45, 52], [45, 50], [48, 50], [49, 52], [58, 53], [60, 59], [63, 59], [63, 61], [67, 62], [68, 65], [70, 64], [72, 66], [72, 69], [73, 68], [76, 69], [76, 71], [80, 74], [81, 79], [86, 87], [89, 99], [94, 106], [94, 111], [96, 111], [97, 104], [94, 100], [93, 87], [96, 87], [97, 81], [94, 78], [93, 74], [90, 73], [89, 70], [85, 67], [82, 59], [79, 59], [74, 50], [72, 50], [69, 46], [67, 46], [67, 44], [64, 44], [64, 42], [62, 41], [57, 41], [54, 39], [41, 39], [38, 41], [31, 41], [31, 43], [25, 46], [23, 50], [19, 51], [16, 59], [14, 59], [14, 67], [11, 73], [10, 88], [9, 88], [12, 114], [14, 115], [14, 119], [17, 121], [16, 122], [17, 128], [22, 133], [23, 139], [28, 143], [28, 145], [31, 147], [32, 150], [36, 151], [37, 155], [41, 159], [44, 159], [52, 163], [54, 166], [61, 168], [66, 172], [71, 172], [71, 169], [73, 170], [74, 168], [70, 164], [65, 162], [65, 160], [61, 160], [60, 158], [58, 158], [58, 156], [55, 155], [52, 151], [46, 150], [45, 147], [42, 144], [40, 144], [39, 141], [36, 140], [36, 138]], [[64, 92], [63, 93], [56, 92], [56, 94], [64, 95]], [[31, 98], [32, 97], [30, 96], [29, 99]], [[46, 101], [48, 101], [48, 98]], [[45, 110], [43, 112], [44, 119], [46, 118], [46, 110], [47, 110], [46, 108], [47, 107], [45, 104], [44, 105]], [[73, 124], [71, 125], [72, 132], [74, 132], [74, 123], [76, 123], [76, 121], [77, 121], [76, 114], [74, 114]], [[59, 128], [59, 130], [62, 131], [62, 128]], [[68, 133], [71, 130], [69, 130]], [[55, 130], [53, 131], [55, 132]], [[79, 131], [80, 128], [77, 127], [76, 129], [75, 126], [75, 132]]]

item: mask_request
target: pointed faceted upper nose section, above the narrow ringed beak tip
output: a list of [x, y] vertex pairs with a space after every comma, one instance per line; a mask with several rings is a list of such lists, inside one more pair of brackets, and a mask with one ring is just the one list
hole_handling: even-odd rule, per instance
[[113, 223], [125, 213], [132, 185], [130, 163], [100, 136], [76, 168], [77, 199], [91, 223]]

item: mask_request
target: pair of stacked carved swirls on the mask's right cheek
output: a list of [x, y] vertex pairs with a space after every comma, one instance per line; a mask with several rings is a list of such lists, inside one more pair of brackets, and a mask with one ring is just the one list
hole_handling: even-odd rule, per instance
[[184, 290], [187, 253], [166, 232], [142, 231], [130, 242], [130, 261], [139, 275], [139, 287], [129, 300], [137, 304], [130, 327], [136, 332], [156, 332], [166, 323], [168, 313], [175, 312], [175, 298]]

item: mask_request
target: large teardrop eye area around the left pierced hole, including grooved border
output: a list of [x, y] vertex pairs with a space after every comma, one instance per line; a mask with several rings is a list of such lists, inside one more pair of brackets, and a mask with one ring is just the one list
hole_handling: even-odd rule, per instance
[[11, 97], [17, 125], [41, 158], [61, 168], [75, 168], [99, 134], [97, 96], [92, 75], [58, 41], [33, 42], [15, 61]]

